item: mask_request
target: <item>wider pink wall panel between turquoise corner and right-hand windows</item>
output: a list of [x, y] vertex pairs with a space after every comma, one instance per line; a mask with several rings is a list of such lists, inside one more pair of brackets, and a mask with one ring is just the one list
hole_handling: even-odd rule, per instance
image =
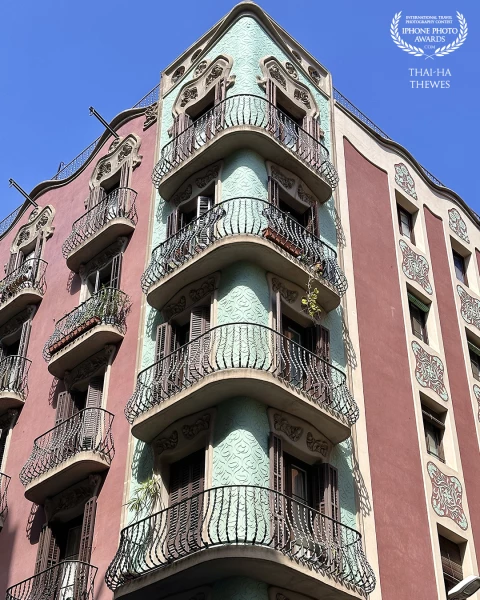
[[388, 178], [347, 140], [344, 147], [382, 598], [432, 600], [437, 588]]

